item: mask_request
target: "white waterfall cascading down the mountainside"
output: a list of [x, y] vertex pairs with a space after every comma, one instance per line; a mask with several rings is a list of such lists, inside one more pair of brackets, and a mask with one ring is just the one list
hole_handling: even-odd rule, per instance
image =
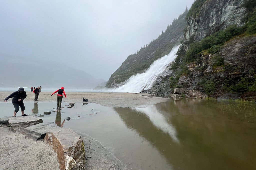
[[175, 59], [175, 53], [178, 48], [179, 46], [173, 47], [172, 51], [168, 55], [154, 61], [150, 68], [148, 68], [144, 73], [131, 76], [123, 86], [115, 88], [113, 91], [139, 93], [143, 89], [150, 89], [157, 76], [159, 76], [166, 69], [169, 63]]

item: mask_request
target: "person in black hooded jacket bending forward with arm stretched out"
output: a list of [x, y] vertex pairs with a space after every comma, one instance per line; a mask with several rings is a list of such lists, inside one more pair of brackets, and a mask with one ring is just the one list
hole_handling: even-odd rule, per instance
[[20, 87], [18, 91], [13, 92], [10, 94], [7, 98], [4, 99], [4, 102], [7, 102], [8, 99], [12, 99], [12, 103], [14, 106], [14, 113], [13, 116], [16, 116], [16, 113], [19, 111], [19, 107], [21, 108], [22, 116], [27, 116], [27, 114], [24, 114], [25, 106], [23, 103], [23, 100], [27, 97], [27, 94], [23, 87]]

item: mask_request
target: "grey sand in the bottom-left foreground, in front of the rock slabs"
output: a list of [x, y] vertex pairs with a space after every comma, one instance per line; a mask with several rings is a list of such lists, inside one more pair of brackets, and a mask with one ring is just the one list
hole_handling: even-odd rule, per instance
[[0, 169], [60, 169], [57, 153], [44, 141], [34, 141], [7, 126], [0, 127], [0, 131]]

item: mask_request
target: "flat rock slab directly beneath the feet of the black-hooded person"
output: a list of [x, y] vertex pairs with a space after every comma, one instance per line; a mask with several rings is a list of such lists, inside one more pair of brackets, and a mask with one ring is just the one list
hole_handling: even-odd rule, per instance
[[8, 122], [15, 132], [19, 132], [21, 129], [24, 129], [28, 126], [42, 123], [43, 120], [37, 116], [28, 115], [28, 116], [10, 117], [8, 118]]

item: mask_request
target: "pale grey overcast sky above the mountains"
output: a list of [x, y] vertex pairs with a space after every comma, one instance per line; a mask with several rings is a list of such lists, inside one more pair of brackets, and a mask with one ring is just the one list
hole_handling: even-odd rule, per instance
[[0, 0], [0, 54], [65, 64], [108, 80], [193, 2]]

